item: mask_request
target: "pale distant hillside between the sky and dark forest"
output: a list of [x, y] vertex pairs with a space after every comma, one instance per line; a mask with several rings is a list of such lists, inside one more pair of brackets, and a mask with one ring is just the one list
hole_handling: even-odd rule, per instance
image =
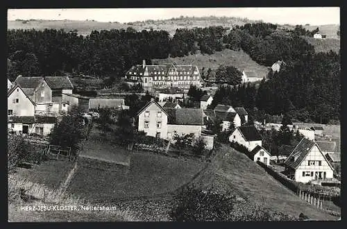
[[242, 26], [246, 23], [252, 23], [248, 19], [242, 19], [237, 17], [201, 17], [201, 18], [183, 18], [183, 19], [164, 19], [164, 20], [146, 20], [146, 22], [95, 22], [92, 20], [88, 21], [73, 21], [73, 20], [16, 20], [8, 21], [8, 29], [31, 29], [44, 30], [44, 28], [60, 29], [63, 28], [65, 31], [77, 30], [79, 35], [87, 35], [91, 31], [110, 30], [110, 29], [121, 29], [133, 27], [137, 31], [144, 29], [153, 30], [164, 30], [168, 31], [172, 36], [176, 32], [177, 28], [194, 28], [196, 27], [207, 27], [207, 26], [224, 26], [232, 27], [235, 25]]

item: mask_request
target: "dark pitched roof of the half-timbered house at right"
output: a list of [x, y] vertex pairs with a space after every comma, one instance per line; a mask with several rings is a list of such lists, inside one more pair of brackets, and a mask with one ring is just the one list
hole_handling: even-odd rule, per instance
[[[291, 167], [292, 169], [297, 169], [298, 166], [301, 164], [301, 162], [303, 162], [303, 160], [306, 158], [307, 154], [310, 153], [312, 147], [315, 145], [316, 145], [316, 142], [312, 142], [311, 140], [303, 137], [303, 139], [301, 139], [301, 141], [298, 143], [295, 149], [291, 152], [287, 160], [285, 160], [285, 165], [287, 165], [287, 167]], [[319, 148], [319, 151], [321, 151], [320, 148]], [[325, 155], [323, 153], [322, 155], [323, 155], [323, 158], [325, 158]], [[328, 160], [327, 160], [327, 163], [329, 164], [330, 168], [333, 170]]]

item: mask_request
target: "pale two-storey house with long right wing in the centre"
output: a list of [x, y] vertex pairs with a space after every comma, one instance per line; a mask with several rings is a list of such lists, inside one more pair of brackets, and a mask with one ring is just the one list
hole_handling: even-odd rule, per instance
[[173, 140], [174, 135], [192, 135], [197, 139], [205, 128], [203, 110], [163, 108], [153, 99], [139, 110], [137, 117], [139, 131], [162, 139]]

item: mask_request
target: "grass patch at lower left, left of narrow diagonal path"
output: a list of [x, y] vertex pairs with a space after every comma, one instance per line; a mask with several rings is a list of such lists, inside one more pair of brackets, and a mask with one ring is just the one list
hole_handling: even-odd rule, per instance
[[60, 183], [67, 178], [69, 171], [74, 167], [74, 162], [63, 160], [49, 160], [32, 169], [16, 169], [16, 176], [30, 180], [33, 183], [44, 184], [51, 189], [57, 189]]

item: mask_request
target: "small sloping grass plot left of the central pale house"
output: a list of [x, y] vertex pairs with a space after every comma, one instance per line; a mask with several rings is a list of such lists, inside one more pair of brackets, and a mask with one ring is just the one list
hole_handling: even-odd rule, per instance
[[130, 161], [129, 151], [112, 144], [112, 133], [103, 132], [96, 126], [98, 124], [95, 124], [90, 131], [90, 136], [87, 142], [85, 142], [80, 155], [86, 158], [128, 164]]

